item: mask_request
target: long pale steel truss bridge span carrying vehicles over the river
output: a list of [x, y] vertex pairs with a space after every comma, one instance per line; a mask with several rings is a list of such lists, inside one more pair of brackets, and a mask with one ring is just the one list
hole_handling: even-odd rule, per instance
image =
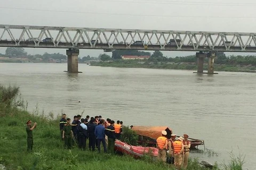
[[256, 52], [256, 33], [0, 25], [0, 47]]

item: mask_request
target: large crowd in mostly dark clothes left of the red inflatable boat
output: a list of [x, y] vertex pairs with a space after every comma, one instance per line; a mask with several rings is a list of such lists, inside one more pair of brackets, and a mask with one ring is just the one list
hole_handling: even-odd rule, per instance
[[[89, 121], [90, 119], [90, 121]], [[122, 121], [105, 120], [101, 116], [82, 118], [81, 115], [74, 116], [71, 123], [70, 118], [66, 118], [66, 114], [62, 114], [60, 120], [61, 137], [65, 141], [65, 148], [71, 149], [75, 143], [78, 148], [85, 150], [86, 141], [89, 139], [89, 150], [94, 151], [102, 143], [104, 152], [114, 153], [115, 140], [121, 138]], [[106, 146], [108, 145], [108, 146]]]

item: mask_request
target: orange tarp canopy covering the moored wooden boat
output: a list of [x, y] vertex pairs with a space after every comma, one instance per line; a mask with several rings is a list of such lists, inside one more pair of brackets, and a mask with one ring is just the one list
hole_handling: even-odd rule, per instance
[[138, 135], [152, 139], [161, 137], [163, 130], [167, 132], [167, 138], [171, 138], [172, 134], [172, 130], [167, 126], [132, 126], [132, 130], [135, 131]]

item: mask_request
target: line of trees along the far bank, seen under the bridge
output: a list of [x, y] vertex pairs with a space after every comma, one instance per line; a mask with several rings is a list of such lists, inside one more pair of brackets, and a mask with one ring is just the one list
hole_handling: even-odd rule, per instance
[[[108, 54], [100, 54], [98, 57], [91, 57], [90, 55], [84, 56], [82, 58], [79, 58], [79, 62], [86, 62], [86, 61], [92, 61], [92, 60], [101, 60], [101, 61], [111, 61], [111, 60], [121, 60], [123, 55], [133, 55], [133, 56], [150, 56], [148, 62], [175, 62], [175, 63], [181, 63], [181, 62], [187, 62], [187, 63], [196, 63], [197, 58], [196, 55], [189, 55], [184, 57], [167, 57], [164, 56], [162, 52], [156, 50], [153, 54], [149, 52], [143, 52], [139, 50], [130, 50], [130, 49], [119, 49], [114, 50], [112, 52], [112, 55]], [[27, 52], [25, 52], [24, 48], [20, 47], [7, 47], [5, 50], [5, 56], [7, 57], [21, 57], [26, 56], [29, 59], [35, 59], [35, 58], [42, 58], [43, 60], [49, 60], [50, 58], [53, 58], [54, 60], [67, 60], [67, 56], [60, 54], [60, 53], [44, 53], [43, 55], [36, 54], [36, 55], [28, 55]], [[205, 58], [205, 62], [207, 62], [207, 58]], [[215, 59], [216, 64], [228, 64], [228, 65], [256, 65], [256, 56], [254, 55], [231, 55], [226, 56], [223, 52], [217, 53], [217, 58]]]

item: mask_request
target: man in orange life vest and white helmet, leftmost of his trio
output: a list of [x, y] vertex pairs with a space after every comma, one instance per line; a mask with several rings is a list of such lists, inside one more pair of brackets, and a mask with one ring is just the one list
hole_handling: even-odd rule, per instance
[[164, 163], [166, 162], [166, 150], [167, 150], [167, 135], [166, 131], [162, 131], [162, 136], [158, 137], [156, 140], [156, 147], [158, 148], [158, 155], [157, 158]]

